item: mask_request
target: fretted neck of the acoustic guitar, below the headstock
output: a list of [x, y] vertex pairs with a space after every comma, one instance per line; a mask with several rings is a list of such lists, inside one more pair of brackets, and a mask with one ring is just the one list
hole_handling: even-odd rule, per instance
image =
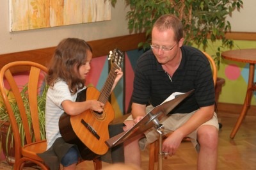
[[102, 88], [102, 90], [100, 91], [100, 95], [98, 98], [99, 102], [102, 102], [103, 104], [106, 104], [106, 102], [108, 102], [108, 98], [109, 95], [111, 93], [111, 89], [113, 87], [113, 84], [115, 82], [116, 79], [116, 69], [119, 69], [120, 67], [118, 65], [116, 65], [116, 63], [113, 63], [113, 66], [109, 72], [108, 78]]

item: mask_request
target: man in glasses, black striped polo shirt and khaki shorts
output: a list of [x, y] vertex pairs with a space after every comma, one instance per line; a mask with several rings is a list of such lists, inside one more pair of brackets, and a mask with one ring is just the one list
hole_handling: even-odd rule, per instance
[[[198, 151], [197, 169], [216, 169], [218, 119], [214, 112], [214, 83], [211, 66], [204, 54], [183, 45], [183, 28], [174, 15], [163, 15], [152, 29], [151, 50], [136, 65], [132, 93], [132, 118], [124, 121], [131, 128], [148, 109], [161, 104], [174, 92], [193, 94], [161, 120], [164, 133], [173, 132], [163, 143], [163, 152], [174, 155], [184, 137], [190, 137]], [[149, 104], [149, 105], [148, 105]], [[140, 166], [140, 148], [158, 139], [152, 128], [143, 137], [126, 141], [125, 163]], [[138, 144], [139, 143], [139, 144]]]

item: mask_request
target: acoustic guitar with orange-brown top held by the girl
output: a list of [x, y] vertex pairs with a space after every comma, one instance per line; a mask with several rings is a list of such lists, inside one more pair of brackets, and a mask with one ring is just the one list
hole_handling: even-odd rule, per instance
[[65, 142], [76, 144], [84, 160], [92, 160], [108, 151], [105, 141], [109, 139], [108, 125], [114, 119], [115, 112], [108, 102], [116, 78], [116, 69], [120, 68], [124, 54], [118, 49], [109, 52], [111, 70], [101, 91], [88, 87], [77, 94], [76, 102], [98, 100], [104, 104], [103, 112], [88, 109], [76, 116], [63, 113], [59, 120], [60, 133]]

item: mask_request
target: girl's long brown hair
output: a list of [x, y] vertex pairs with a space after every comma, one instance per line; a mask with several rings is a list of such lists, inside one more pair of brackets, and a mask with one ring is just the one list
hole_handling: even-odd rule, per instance
[[47, 84], [52, 87], [59, 80], [65, 81], [72, 94], [76, 93], [77, 89], [83, 88], [85, 80], [79, 76], [79, 67], [86, 62], [88, 52], [92, 52], [92, 48], [84, 40], [78, 38], [62, 40], [51, 59]]

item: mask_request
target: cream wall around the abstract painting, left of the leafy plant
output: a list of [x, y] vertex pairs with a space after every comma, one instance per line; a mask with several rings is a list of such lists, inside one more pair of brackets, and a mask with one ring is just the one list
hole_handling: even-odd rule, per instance
[[125, 19], [129, 8], [125, 6], [124, 0], [118, 0], [115, 8], [111, 8], [111, 20], [109, 21], [12, 33], [9, 32], [9, 1], [0, 0], [0, 54], [53, 47], [67, 37], [90, 41], [129, 35]]

